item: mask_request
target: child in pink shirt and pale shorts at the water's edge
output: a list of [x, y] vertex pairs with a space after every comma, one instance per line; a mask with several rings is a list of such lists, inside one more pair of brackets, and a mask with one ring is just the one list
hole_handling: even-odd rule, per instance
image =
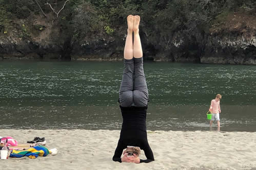
[[217, 94], [216, 98], [211, 100], [211, 106], [209, 111], [211, 112], [211, 120], [210, 120], [210, 127], [212, 126], [213, 120], [217, 120], [218, 129], [220, 128], [220, 113], [221, 113], [221, 106], [220, 106], [221, 94]]

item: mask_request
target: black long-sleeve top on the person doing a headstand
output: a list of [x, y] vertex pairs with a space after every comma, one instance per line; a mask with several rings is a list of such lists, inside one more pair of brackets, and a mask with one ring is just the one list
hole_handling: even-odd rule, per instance
[[122, 162], [121, 156], [123, 150], [128, 145], [140, 147], [144, 151], [146, 160], [140, 159], [140, 163], [154, 161], [154, 156], [148, 144], [146, 115], [147, 107], [122, 107], [123, 125], [120, 132], [120, 138], [115, 149], [113, 161]]

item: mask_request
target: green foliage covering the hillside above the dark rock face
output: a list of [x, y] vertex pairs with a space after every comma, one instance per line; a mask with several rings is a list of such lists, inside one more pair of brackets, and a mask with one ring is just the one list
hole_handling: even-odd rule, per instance
[[[52, 13], [45, 5], [46, 0], [37, 2], [46, 14]], [[56, 0], [48, 2], [54, 4]], [[65, 0], [58, 0], [53, 7], [58, 11], [64, 3]], [[73, 37], [78, 41], [91, 35], [114, 36], [114, 31], [126, 27], [127, 15], [140, 15], [141, 30], [161, 43], [161, 39], [168, 41], [177, 32], [208, 32], [212, 23], [223, 22], [229, 13], [251, 10], [255, 5], [255, 0], [72, 0], [54, 18], [53, 24], [60, 29], [58, 38]], [[28, 26], [29, 16], [38, 13], [42, 14], [33, 0], [0, 0], [0, 32], [12, 30], [14, 19], [22, 19]], [[39, 25], [32, 27], [39, 31], [45, 29]], [[22, 37], [29, 36], [27, 27], [22, 26], [21, 30]]]

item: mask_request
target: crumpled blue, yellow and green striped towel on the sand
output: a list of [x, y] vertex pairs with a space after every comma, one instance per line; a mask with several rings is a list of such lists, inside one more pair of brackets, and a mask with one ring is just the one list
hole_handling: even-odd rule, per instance
[[38, 156], [47, 156], [48, 154], [50, 154], [50, 151], [47, 148], [40, 145], [23, 151], [12, 150], [10, 157], [21, 158], [24, 156], [28, 156], [31, 159], [35, 159]]

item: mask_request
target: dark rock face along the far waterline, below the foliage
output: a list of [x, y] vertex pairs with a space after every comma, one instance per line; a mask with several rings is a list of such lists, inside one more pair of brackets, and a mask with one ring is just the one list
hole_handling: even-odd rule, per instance
[[[209, 32], [181, 33], [157, 39], [140, 29], [144, 59], [170, 62], [198, 62], [256, 65], [256, 17], [235, 14], [221, 26], [212, 26]], [[83, 41], [72, 37], [52, 38], [53, 28], [44, 26], [38, 36], [19, 38], [15, 31], [0, 36], [0, 59], [24, 60], [108, 60], [123, 59], [126, 29], [112, 35], [90, 35]], [[125, 30], [125, 31], [124, 31]], [[48, 33], [47, 33], [48, 31]], [[44, 34], [44, 36], [42, 36]], [[39, 38], [38, 38], [39, 37]]]

